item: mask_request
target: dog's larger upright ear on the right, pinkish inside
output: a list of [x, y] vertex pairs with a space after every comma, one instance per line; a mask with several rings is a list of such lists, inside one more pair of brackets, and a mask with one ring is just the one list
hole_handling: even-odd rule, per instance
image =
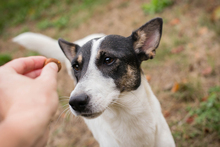
[[162, 35], [162, 18], [154, 18], [134, 31], [130, 36], [140, 61], [153, 59]]

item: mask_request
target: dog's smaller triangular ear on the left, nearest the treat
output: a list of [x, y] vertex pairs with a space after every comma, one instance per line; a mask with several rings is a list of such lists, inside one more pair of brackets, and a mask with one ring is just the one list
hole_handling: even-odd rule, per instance
[[76, 53], [79, 50], [80, 46], [78, 46], [77, 44], [68, 42], [62, 38], [58, 39], [58, 43], [63, 53], [65, 54], [65, 56], [71, 62], [73, 58], [76, 56]]

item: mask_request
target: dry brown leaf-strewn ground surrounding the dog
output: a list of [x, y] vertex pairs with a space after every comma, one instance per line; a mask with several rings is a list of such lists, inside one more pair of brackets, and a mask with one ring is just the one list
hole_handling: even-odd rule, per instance
[[[156, 56], [142, 64], [146, 78], [161, 103], [177, 146], [220, 146], [220, 135], [216, 131], [219, 125], [215, 124], [217, 129], [206, 127], [196, 120], [199, 114], [192, 115], [195, 108], [200, 110], [201, 102], [208, 101], [209, 89], [220, 86], [220, 31], [219, 25], [215, 25], [220, 17], [214, 13], [220, 2], [175, 1], [156, 14], [144, 13], [142, 5], [146, 2], [149, 0], [114, 0], [97, 4], [91, 15], [73, 27], [70, 23], [61, 28], [42, 28], [38, 27], [37, 20], [7, 27], [0, 36], [0, 54], [10, 54], [12, 58], [35, 54], [11, 42], [11, 38], [24, 31], [42, 33], [55, 39], [62, 37], [68, 41], [92, 33], [129, 36], [148, 20], [162, 17], [163, 36]], [[79, 14], [84, 18], [87, 11], [79, 12], [77, 16]], [[72, 17], [71, 21], [74, 21], [76, 16]], [[58, 74], [60, 108], [50, 126], [47, 147], [98, 147], [83, 119], [72, 116], [66, 109], [73, 88], [64, 67]]]

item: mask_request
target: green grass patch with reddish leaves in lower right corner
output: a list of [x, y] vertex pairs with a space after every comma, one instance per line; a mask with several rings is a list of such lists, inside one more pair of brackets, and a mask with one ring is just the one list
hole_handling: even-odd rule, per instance
[[[209, 89], [207, 97], [200, 97], [197, 106], [186, 108], [188, 114], [182, 125], [175, 125], [173, 136], [177, 146], [216, 146], [220, 138], [220, 86]], [[179, 122], [176, 122], [177, 124]]]

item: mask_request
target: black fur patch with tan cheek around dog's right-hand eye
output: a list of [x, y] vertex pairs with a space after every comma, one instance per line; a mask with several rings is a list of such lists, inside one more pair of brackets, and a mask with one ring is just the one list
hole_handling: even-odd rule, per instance
[[[103, 64], [106, 57], [115, 59], [115, 62], [111, 65]], [[100, 45], [96, 65], [103, 76], [114, 79], [121, 92], [135, 90], [140, 85], [140, 62], [131, 38], [106, 36]]]

